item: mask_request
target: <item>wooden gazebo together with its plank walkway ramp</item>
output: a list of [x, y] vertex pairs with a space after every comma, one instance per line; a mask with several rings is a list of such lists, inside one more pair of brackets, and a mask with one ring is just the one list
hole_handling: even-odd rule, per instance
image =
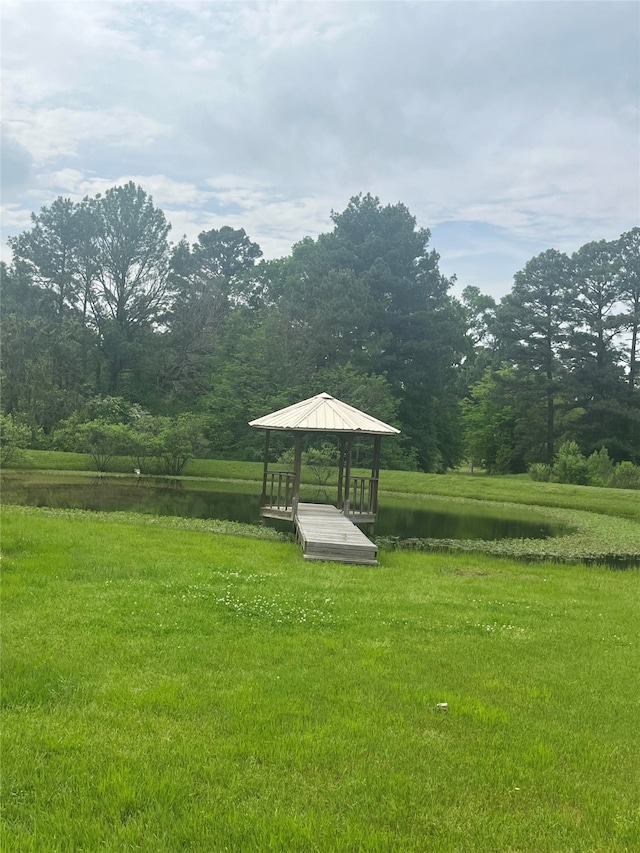
[[[377, 547], [356, 527], [372, 526], [378, 516], [378, 480], [382, 436], [399, 430], [361, 412], [330, 394], [318, 394], [286, 409], [265, 415], [249, 426], [266, 432], [261, 514], [266, 518], [290, 519], [307, 560], [377, 565]], [[269, 438], [272, 430], [292, 432], [295, 442], [293, 471], [269, 468]], [[300, 502], [302, 440], [308, 433], [339, 437], [338, 494], [335, 505]], [[351, 473], [354, 438], [373, 438], [371, 477]]]

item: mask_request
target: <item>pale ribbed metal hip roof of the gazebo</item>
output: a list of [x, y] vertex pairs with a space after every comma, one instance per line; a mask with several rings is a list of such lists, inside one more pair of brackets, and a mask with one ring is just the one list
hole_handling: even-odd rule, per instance
[[300, 432], [348, 432], [365, 435], [398, 435], [399, 429], [336, 400], [330, 394], [317, 394], [286, 409], [250, 421], [258, 429], [297, 430]]

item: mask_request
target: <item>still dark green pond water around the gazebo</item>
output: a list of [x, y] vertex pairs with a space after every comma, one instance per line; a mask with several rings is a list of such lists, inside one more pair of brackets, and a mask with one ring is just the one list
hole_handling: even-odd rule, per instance
[[[2, 501], [27, 506], [50, 506], [186, 518], [217, 518], [245, 524], [269, 524], [291, 532], [290, 522], [260, 518], [259, 487], [255, 484], [229, 486], [220, 482], [154, 480], [129, 477], [74, 477], [41, 473], [11, 472], [2, 478]], [[248, 491], [247, 489], [250, 489]], [[304, 496], [305, 500], [330, 502], [325, 494]], [[375, 533], [379, 536], [438, 539], [542, 539], [562, 532], [559, 526], [535, 512], [490, 506], [390, 498], [380, 500]]]

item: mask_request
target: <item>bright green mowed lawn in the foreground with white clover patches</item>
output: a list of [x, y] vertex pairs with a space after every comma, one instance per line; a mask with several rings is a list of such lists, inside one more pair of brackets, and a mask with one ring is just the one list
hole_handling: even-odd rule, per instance
[[640, 848], [637, 571], [11, 508], [3, 551], [3, 850]]

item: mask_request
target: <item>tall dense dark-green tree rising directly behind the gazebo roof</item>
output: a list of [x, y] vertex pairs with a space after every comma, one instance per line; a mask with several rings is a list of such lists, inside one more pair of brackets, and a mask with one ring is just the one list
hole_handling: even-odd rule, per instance
[[[428, 247], [430, 233], [416, 227], [403, 204], [382, 206], [369, 194], [354, 196], [332, 220], [332, 232], [294, 247], [288, 304], [298, 290], [311, 288], [313, 294], [316, 288], [312, 328], [323, 328], [329, 344], [317, 349], [329, 355], [322, 367], [349, 361], [364, 373], [386, 376], [399, 400], [402, 440], [416, 449], [420, 467], [451, 466], [461, 451], [456, 368], [465, 346], [464, 318], [448, 293], [451, 280], [441, 275], [438, 255]], [[327, 289], [329, 300], [320, 296]]]

